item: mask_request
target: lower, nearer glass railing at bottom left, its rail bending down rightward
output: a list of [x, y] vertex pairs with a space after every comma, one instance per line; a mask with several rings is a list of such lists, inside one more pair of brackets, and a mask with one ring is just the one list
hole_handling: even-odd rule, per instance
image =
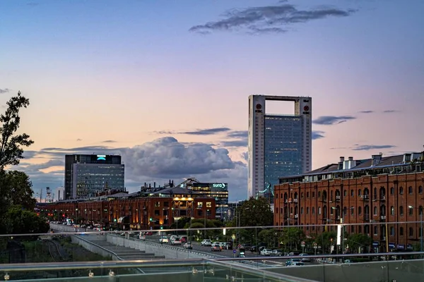
[[0, 273], [6, 281], [310, 281], [209, 259], [1, 264]]

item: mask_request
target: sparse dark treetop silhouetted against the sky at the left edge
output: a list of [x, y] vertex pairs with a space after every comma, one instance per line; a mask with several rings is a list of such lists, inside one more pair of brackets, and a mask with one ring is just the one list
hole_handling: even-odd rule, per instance
[[[15, 97], [11, 97], [6, 103], [8, 108], [4, 114], [0, 115], [0, 170], [6, 166], [15, 166], [23, 159], [22, 147], [28, 147], [34, 143], [30, 140], [30, 135], [22, 133], [16, 135], [20, 125], [20, 109], [30, 105], [30, 100], [23, 97], [20, 92]], [[3, 191], [1, 191], [3, 192]], [[2, 195], [2, 193], [0, 194]]]

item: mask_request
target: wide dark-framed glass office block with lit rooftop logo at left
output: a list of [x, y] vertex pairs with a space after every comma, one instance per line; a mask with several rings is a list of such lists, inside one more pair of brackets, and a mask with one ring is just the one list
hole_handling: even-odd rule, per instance
[[90, 197], [105, 189], [124, 190], [121, 156], [68, 154], [65, 156], [65, 199]]

